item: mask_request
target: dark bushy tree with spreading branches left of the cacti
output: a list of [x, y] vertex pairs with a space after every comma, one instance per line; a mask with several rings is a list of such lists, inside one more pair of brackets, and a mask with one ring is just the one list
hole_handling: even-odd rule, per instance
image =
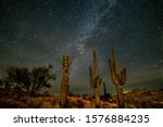
[[28, 94], [34, 96], [42, 88], [50, 88], [51, 80], [57, 78], [55, 74], [51, 73], [52, 65], [34, 67], [32, 71], [27, 67], [16, 67], [10, 66], [7, 69], [8, 77], [5, 79], [5, 86], [8, 80], [12, 82], [12, 87], [21, 88], [23, 91], [26, 91]]

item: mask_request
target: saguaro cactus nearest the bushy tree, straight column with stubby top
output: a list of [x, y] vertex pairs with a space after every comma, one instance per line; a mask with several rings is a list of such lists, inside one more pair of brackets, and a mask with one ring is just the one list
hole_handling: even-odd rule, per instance
[[68, 94], [68, 88], [70, 88], [68, 75], [70, 75], [71, 60], [68, 55], [63, 55], [62, 66], [63, 66], [63, 75], [62, 75], [62, 81], [61, 81], [60, 106], [65, 107], [67, 94]]

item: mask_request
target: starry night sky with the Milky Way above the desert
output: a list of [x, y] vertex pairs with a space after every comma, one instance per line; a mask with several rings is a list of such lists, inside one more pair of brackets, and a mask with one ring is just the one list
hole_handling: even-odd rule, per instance
[[60, 91], [62, 55], [72, 60], [71, 91], [90, 93], [89, 65], [97, 52], [106, 88], [111, 49], [126, 67], [124, 89], [163, 88], [163, 0], [1, 0], [0, 76], [10, 65], [52, 64]]

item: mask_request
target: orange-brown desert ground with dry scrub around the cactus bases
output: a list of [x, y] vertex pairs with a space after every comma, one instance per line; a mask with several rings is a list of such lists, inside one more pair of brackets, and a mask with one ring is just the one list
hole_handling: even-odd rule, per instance
[[[0, 89], [0, 107], [3, 109], [60, 109], [59, 96], [38, 94], [29, 97], [17, 90]], [[163, 107], [163, 90], [133, 90], [125, 93], [125, 106]], [[115, 109], [115, 98], [102, 98], [101, 109]], [[67, 109], [95, 109], [95, 99], [91, 96], [71, 96], [67, 98]]]

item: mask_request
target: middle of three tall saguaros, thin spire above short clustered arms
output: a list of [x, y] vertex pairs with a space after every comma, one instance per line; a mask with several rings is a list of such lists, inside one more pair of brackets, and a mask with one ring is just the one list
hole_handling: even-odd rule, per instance
[[89, 66], [89, 79], [90, 79], [90, 86], [93, 88], [96, 107], [100, 107], [100, 85], [102, 79], [98, 75], [96, 51], [93, 51], [93, 71], [91, 66]]

